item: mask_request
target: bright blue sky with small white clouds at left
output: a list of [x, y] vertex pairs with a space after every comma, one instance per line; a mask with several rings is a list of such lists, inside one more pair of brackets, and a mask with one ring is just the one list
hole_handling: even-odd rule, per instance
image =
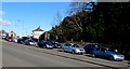
[[[52, 28], [57, 12], [64, 18], [70, 2], [2, 2], [0, 25], [6, 32], [30, 36], [39, 26], [44, 31]], [[23, 29], [24, 28], [24, 29]]]

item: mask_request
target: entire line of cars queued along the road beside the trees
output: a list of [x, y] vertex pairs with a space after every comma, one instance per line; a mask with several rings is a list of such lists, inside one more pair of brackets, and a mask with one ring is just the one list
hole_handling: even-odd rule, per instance
[[81, 47], [79, 44], [76, 43], [64, 43], [60, 44], [55, 41], [44, 41], [40, 40], [38, 42], [35, 42], [32, 39], [23, 37], [23, 38], [16, 38], [13, 39], [11, 37], [2, 37], [2, 39], [10, 41], [10, 42], [16, 42], [21, 44], [26, 45], [38, 45], [39, 47], [44, 49], [62, 49], [63, 52], [69, 52], [72, 54], [91, 54], [92, 57], [105, 57], [110, 60], [123, 60], [125, 56], [118, 52], [113, 51], [109, 47], [101, 46], [98, 44], [87, 44], [84, 47]]

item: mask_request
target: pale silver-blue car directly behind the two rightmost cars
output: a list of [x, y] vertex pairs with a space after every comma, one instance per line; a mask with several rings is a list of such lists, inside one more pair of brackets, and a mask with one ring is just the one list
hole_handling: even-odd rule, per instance
[[76, 43], [64, 43], [62, 50], [64, 52], [70, 52], [72, 54], [84, 54], [84, 50]]

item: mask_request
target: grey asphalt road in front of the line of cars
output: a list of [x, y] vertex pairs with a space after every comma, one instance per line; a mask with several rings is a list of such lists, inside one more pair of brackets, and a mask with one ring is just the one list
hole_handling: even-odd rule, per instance
[[[42, 52], [44, 51], [44, 52]], [[72, 56], [68, 53], [57, 52], [57, 50], [46, 50], [36, 46], [28, 46], [12, 42], [2, 42], [2, 66], [3, 67], [100, 67], [100, 68], [107, 68], [104, 66], [79, 61], [70, 58], [65, 58], [56, 55], [51, 55], [46, 52], [63, 54], [66, 56]], [[77, 58], [84, 58], [86, 56], [82, 55], [73, 55], [73, 57]], [[87, 58], [87, 57], [86, 57]], [[92, 58], [88, 57], [88, 59], [93, 60]], [[96, 58], [94, 58], [95, 60]], [[96, 59], [98, 60], [98, 59]], [[102, 59], [99, 59], [100, 61]], [[102, 60], [104, 64], [112, 61]], [[127, 67], [127, 61], [122, 63], [113, 63], [119, 66]], [[121, 67], [122, 67], [121, 66]]]

